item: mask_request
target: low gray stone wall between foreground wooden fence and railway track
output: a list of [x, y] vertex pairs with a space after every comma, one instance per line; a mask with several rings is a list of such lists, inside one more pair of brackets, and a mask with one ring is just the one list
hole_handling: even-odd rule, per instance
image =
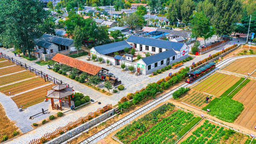
[[46, 142], [46, 144], [60, 144], [62, 142], [65, 142], [66, 140], [72, 138], [73, 136], [76, 136], [77, 134], [80, 134], [84, 130], [87, 130], [91, 128], [92, 126], [95, 126], [96, 124], [106, 120], [110, 116], [114, 115], [114, 109], [106, 112], [106, 114], [102, 114], [84, 124], [81, 124], [80, 126], [73, 128], [72, 130], [69, 130], [68, 132], [65, 132], [64, 134], [50, 140], [49, 142]]

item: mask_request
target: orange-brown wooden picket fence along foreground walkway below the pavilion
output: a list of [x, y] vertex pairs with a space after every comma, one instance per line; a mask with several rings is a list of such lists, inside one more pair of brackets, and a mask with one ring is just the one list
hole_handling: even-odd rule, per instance
[[82, 116], [74, 122], [69, 122], [66, 126], [58, 127], [54, 132], [46, 133], [41, 138], [31, 140], [29, 142], [29, 144], [43, 144], [43, 143], [47, 142], [49, 139], [53, 139], [56, 136], [58, 136], [59, 134], [64, 134], [68, 130], [71, 130], [72, 128], [75, 128], [78, 125], [80, 125], [80, 124], [82, 124], [82, 123], [84, 123], [84, 122], [86, 122], [86, 121], [88, 121], [92, 118], [95, 118], [96, 116], [98, 116], [98, 115], [100, 115], [100, 114], [102, 114], [102, 113], [104, 113], [104, 112], [106, 112], [110, 109], [112, 109], [112, 104], [107, 104], [106, 106], [104, 106], [103, 108], [99, 108], [95, 112], [90, 112], [87, 116]]

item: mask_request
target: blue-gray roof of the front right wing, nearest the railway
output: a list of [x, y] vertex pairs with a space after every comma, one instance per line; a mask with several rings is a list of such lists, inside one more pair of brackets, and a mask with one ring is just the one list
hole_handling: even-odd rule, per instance
[[175, 55], [176, 55], [176, 52], [174, 50], [170, 49], [170, 50], [166, 50], [164, 52], [160, 52], [158, 54], [154, 54], [152, 56], [148, 56], [146, 58], [142, 58], [142, 60], [143, 60], [143, 62], [145, 62], [146, 65], [150, 65], [150, 64], [154, 64], [156, 62], [159, 62], [166, 58], [170, 58]]

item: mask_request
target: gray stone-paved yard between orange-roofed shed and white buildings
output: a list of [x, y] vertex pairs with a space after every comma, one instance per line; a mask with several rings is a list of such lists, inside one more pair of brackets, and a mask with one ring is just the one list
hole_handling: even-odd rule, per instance
[[[123, 70], [122, 68], [117, 68], [117, 67], [114, 67], [113, 65], [107, 66], [106, 63], [100, 64], [100, 62], [98, 61], [96, 62], [94, 62], [93, 60], [87, 61], [86, 58], [87, 56], [81, 56], [76, 59], [108, 69], [110, 73], [114, 74], [114, 76], [118, 78], [118, 80], [122, 81], [122, 85], [124, 85], [125, 88], [128, 88], [130, 86], [133, 86], [135, 84], [138, 84], [148, 79], [148, 76], [145, 76], [145, 75], [135, 76], [135, 74], [130, 74], [129, 70], [122, 71]], [[98, 87], [103, 88], [102, 85], [99, 85]]]

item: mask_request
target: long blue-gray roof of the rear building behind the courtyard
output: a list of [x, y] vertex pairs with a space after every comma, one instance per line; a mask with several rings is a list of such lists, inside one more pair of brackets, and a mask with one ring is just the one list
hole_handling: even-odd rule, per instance
[[180, 51], [184, 43], [180, 42], [170, 42], [167, 40], [158, 40], [154, 38], [144, 38], [141, 36], [130, 36], [127, 42], [137, 43], [137, 44], [144, 44], [147, 46], [154, 46], [158, 48], [165, 48], [168, 50], [174, 49], [176, 51]]

